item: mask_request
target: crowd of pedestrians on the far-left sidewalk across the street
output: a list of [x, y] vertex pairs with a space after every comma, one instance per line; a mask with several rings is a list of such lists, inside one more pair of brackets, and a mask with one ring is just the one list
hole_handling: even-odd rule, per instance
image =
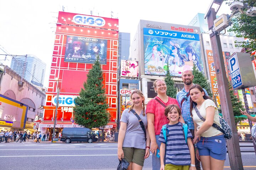
[[[1, 130], [0, 132], [0, 143], [1, 142], [38, 142], [48, 141], [50, 133], [33, 132], [31, 134], [27, 131], [12, 131], [12, 130]], [[61, 135], [60, 135], [61, 136]]]

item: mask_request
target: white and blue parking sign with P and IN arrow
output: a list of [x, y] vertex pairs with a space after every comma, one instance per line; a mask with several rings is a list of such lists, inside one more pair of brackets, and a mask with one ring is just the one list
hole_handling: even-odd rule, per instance
[[240, 75], [240, 69], [238, 65], [238, 58], [236, 54], [228, 59], [228, 65], [231, 75], [231, 81], [234, 89], [239, 88], [242, 85], [242, 79]]

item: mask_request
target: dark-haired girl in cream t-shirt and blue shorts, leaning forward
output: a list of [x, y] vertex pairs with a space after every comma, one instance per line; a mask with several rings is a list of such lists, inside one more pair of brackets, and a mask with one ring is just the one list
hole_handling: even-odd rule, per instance
[[[204, 170], [223, 170], [226, 159], [226, 140], [222, 132], [214, 128], [213, 123], [220, 125], [219, 113], [215, 103], [206, 96], [198, 84], [190, 88], [190, 113], [194, 121], [194, 140], [196, 157], [201, 161]], [[195, 111], [205, 119], [201, 120]]]

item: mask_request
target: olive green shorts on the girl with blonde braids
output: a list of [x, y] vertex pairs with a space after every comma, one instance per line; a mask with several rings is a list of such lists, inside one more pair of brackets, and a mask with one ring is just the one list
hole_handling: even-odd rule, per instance
[[144, 165], [145, 149], [123, 147], [124, 159], [140, 166]]

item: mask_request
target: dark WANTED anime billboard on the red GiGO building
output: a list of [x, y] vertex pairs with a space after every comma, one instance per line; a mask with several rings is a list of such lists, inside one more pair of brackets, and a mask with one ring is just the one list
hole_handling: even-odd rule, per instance
[[107, 40], [82, 36], [67, 36], [65, 62], [107, 64]]

